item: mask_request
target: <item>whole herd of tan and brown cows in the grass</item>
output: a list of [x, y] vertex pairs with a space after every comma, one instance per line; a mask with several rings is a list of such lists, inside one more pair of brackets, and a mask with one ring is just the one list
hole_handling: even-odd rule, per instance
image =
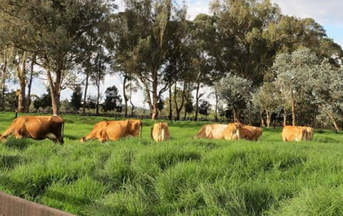
[[[63, 144], [64, 119], [60, 116], [21, 116], [0, 135], [0, 140], [5, 141], [9, 135], [16, 138], [33, 138], [53, 140], [54, 143]], [[141, 120], [102, 120], [94, 125], [91, 133], [81, 138], [87, 140], [118, 140], [126, 136], [142, 135], [143, 123]], [[155, 141], [170, 139], [168, 123], [155, 123], [151, 128], [151, 138]], [[207, 124], [200, 128], [194, 138], [225, 139], [225, 140], [258, 140], [262, 136], [262, 128], [240, 123]], [[312, 140], [313, 128], [300, 126], [285, 126], [282, 129], [282, 140], [300, 141]]]

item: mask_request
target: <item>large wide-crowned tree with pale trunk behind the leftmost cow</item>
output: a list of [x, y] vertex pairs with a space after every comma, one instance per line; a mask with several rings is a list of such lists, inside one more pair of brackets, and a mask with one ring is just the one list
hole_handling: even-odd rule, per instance
[[[68, 67], [81, 53], [79, 45], [86, 32], [106, 19], [113, 9], [112, 1], [3, 1], [1, 13], [12, 24], [5, 33], [9, 43], [37, 55], [37, 62], [46, 70], [53, 113], [60, 113], [60, 95]], [[11, 37], [21, 34], [20, 37]]]

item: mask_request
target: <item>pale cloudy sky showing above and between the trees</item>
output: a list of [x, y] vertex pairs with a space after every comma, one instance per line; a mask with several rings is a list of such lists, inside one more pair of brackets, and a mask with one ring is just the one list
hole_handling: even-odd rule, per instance
[[[177, 0], [180, 1], [180, 0]], [[270, 0], [272, 4], [278, 4], [282, 10], [282, 14], [297, 16], [299, 18], [311, 17], [317, 23], [324, 26], [327, 31], [327, 36], [333, 38], [336, 43], [339, 43], [343, 47], [343, 0]], [[181, 2], [181, 1], [180, 1]], [[210, 0], [188, 0], [188, 14], [190, 20], [194, 19], [197, 14], [208, 14]], [[123, 10], [123, 3], [117, 1], [119, 10]], [[36, 80], [32, 87], [32, 93], [41, 95], [45, 87], [43, 83], [45, 81]], [[123, 96], [123, 84], [118, 76], [107, 76], [105, 83], [101, 86], [101, 92], [104, 95], [106, 88], [116, 85], [121, 96]], [[89, 92], [91, 94], [96, 93], [96, 88], [90, 86]], [[204, 90], [206, 91], [206, 89]], [[208, 91], [208, 90], [207, 90]], [[61, 92], [61, 99], [70, 101], [72, 91], [70, 89], [63, 90]], [[210, 93], [210, 92], [208, 92]], [[133, 103], [135, 106], [145, 106], [143, 103], [143, 93], [139, 91], [137, 95], [133, 97]]]

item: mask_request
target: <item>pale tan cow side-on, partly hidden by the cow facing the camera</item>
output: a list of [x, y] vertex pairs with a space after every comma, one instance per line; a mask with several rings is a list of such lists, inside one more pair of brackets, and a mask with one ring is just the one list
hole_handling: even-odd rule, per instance
[[200, 128], [194, 138], [224, 139], [224, 131], [227, 125], [207, 124]]

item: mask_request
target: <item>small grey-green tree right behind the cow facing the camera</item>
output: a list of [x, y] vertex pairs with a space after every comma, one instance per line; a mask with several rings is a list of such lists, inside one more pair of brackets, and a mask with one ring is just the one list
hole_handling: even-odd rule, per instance
[[235, 122], [239, 123], [241, 112], [251, 98], [252, 81], [227, 73], [215, 84], [215, 88], [220, 100], [225, 101], [227, 107], [232, 109]]

